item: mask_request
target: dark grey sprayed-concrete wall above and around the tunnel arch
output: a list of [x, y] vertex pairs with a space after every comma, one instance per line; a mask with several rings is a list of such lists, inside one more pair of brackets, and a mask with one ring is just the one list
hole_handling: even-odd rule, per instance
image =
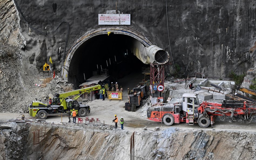
[[[11, 1], [5, 0], [11, 4]], [[77, 40], [89, 32], [106, 27], [98, 25], [98, 14], [131, 14], [131, 25], [154, 45], [166, 49], [175, 64], [188, 65], [191, 74], [225, 77], [231, 70], [237, 74], [255, 68], [255, 1], [21, 1], [16, 0], [26, 21], [35, 29], [50, 33], [62, 21], [70, 25], [66, 52]], [[13, 5], [11, 5], [13, 7]], [[168, 20], [166, 16], [168, 10]], [[14, 19], [15, 21], [16, 19]], [[4, 20], [1, 20], [4, 21]], [[16, 22], [16, 21], [15, 21]], [[170, 46], [167, 23], [169, 26]], [[16, 24], [15, 26], [17, 26]], [[30, 66], [40, 66], [49, 57], [61, 68], [65, 50], [67, 23], [62, 23], [51, 37], [35, 32], [21, 18], [22, 35], [26, 48], [22, 52], [24, 63], [35, 53], [42, 55], [40, 41], [45, 40], [47, 53]], [[96, 42], [95, 42], [96, 43]], [[60, 49], [61, 47], [61, 49]], [[102, 46], [101, 46], [102, 47]], [[45, 50], [43, 51], [45, 52]], [[29, 68], [29, 67], [27, 67]], [[194, 75], [194, 74], [193, 74]]]

